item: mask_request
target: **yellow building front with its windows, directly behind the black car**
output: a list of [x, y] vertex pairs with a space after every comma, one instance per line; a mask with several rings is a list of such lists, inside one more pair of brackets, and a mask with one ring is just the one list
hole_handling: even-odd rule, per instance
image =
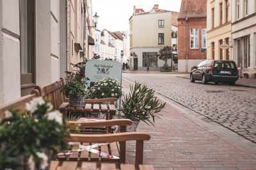
[[232, 60], [231, 0], [207, 0], [207, 59]]

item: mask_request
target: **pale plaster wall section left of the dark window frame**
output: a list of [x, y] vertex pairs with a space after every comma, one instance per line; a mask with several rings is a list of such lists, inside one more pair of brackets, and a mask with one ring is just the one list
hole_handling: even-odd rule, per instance
[[19, 1], [0, 1], [0, 106], [20, 97]]

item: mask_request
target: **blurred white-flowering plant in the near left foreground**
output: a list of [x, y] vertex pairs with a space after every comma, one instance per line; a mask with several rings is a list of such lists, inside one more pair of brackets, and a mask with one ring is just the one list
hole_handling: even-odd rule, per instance
[[36, 97], [21, 114], [5, 111], [0, 122], [0, 169], [49, 169], [51, 158], [67, 149], [65, 119], [52, 108]]

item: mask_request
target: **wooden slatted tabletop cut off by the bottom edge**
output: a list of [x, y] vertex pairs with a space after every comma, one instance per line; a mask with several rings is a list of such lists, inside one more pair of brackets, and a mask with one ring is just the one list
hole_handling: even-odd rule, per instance
[[[115, 164], [111, 163], [102, 163], [100, 164], [100, 168], [97, 168], [97, 164], [95, 162], [76, 162], [76, 161], [59, 161], [52, 160], [50, 170], [107, 170], [107, 169], [116, 169]], [[121, 164], [120, 170], [132, 170], [135, 169], [134, 165], [131, 164]], [[154, 167], [147, 165], [139, 165], [140, 170], [154, 170]]]

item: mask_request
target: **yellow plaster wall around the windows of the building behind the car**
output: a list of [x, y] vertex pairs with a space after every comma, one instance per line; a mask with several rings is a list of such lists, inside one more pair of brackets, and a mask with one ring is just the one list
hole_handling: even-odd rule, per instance
[[[220, 23], [220, 3], [222, 3], [222, 23]], [[207, 0], [207, 59], [220, 59], [220, 39], [225, 44], [225, 38], [231, 39], [231, 0], [228, 0], [228, 20], [226, 22], [225, 0]], [[214, 28], [212, 28], [212, 8], [214, 8]], [[212, 42], [214, 42], [214, 57], [212, 56]], [[232, 49], [229, 48], [229, 60], [232, 59]], [[223, 49], [223, 60], [226, 60], [226, 50]]]

